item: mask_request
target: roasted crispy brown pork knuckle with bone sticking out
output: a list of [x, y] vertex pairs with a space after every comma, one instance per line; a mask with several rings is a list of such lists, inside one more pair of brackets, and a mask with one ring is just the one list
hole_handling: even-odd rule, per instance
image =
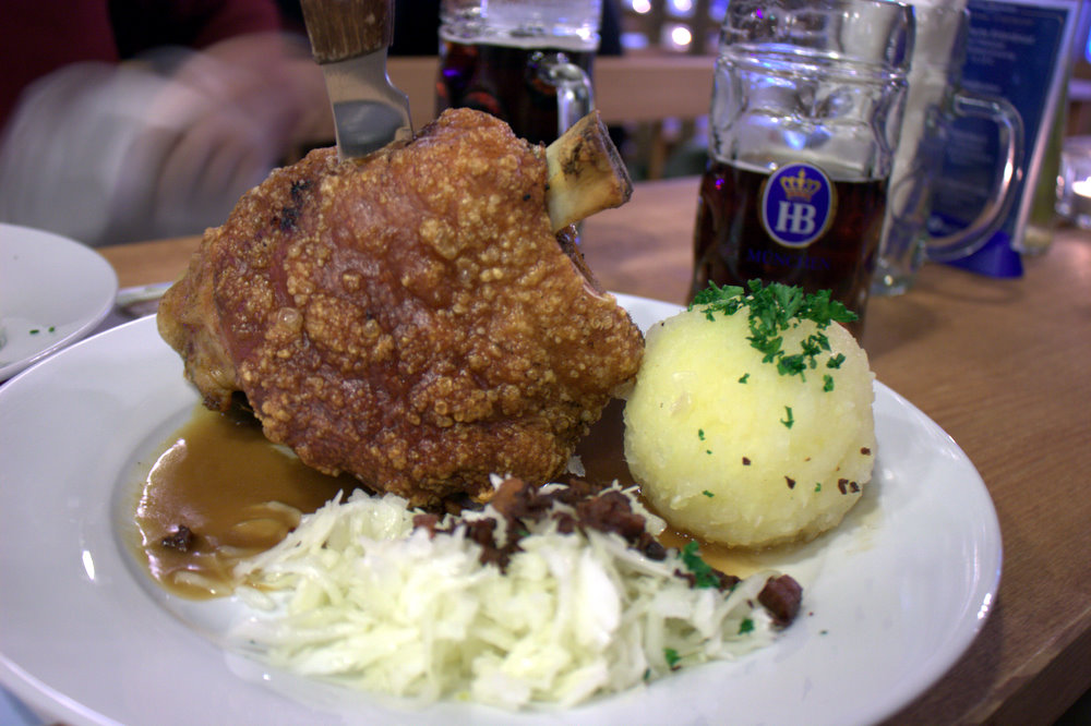
[[606, 169], [597, 208], [632, 189], [612, 147], [588, 157], [592, 126], [547, 152], [463, 109], [364, 159], [312, 152], [205, 232], [159, 331], [205, 406], [242, 391], [324, 472], [413, 505], [488, 498], [491, 473], [544, 482], [644, 346], [559, 244], [597, 210], [566, 178]]

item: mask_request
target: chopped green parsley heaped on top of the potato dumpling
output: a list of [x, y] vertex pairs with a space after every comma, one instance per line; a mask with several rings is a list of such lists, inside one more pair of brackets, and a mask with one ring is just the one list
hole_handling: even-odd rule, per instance
[[[746, 283], [750, 292], [742, 287], [728, 285], [719, 287], [709, 282], [708, 287], [694, 295], [690, 310], [703, 306], [705, 317], [716, 319], [716, 313], [734, 315], [743, 307], [747, 308], [751, 335], [747, 337], [751, 347], [762, 353], [764, 363], [772, 363], [782, 376], [800, 376], [806, 380], [806, 371], [817, 367], [818, 358], [830, 351], [829, 338], [823, 330], [830, 323], [851, 323], [858, 315], [836, 300], [830, 300], [829, 290], [804, 293], [800, 288], [762, 280], [751, 280]], [[796, 327], [800, 320], [812, 320], [818, 331], [800, 341], [800, 350], [783, 349], [783, 332]], [[826, 367], [837, 368], [844, 362], [844, 355], [838, 353], [826, 361]], [[746, 376], [739, 379], [745, 383]], [[832, 379], [827, 378], [824, 390], [832, 390]]]

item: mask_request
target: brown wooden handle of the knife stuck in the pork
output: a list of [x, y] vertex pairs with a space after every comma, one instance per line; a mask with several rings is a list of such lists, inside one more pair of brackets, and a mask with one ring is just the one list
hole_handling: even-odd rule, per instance
[[311, 52], [321, 63], [385, 50], [394, 37], [394, 0], [300, 0]]

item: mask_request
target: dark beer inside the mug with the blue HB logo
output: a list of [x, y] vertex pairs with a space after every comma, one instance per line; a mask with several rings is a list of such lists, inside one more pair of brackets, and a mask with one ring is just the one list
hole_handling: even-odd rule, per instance
[[[808, 167], [810, 168], [810, 167]], [[778, 179], [799, 180], [799, 171]], [[805, 186], [804, 182], [789, 183]], [[694, 231], [691, 297], [708, 283], [745, 286], [747, 280], [795, 285], [831, 297], [863, 315], [886, 208], [886, 182], [832, 181], [828, 210], [806, 189], [794, 196], [769, 190], [774, 176], [723, 161], [708, 165], [700, 182]], [[815, 184], [820, 185], [815, 179]], [[764, 214], [763, 199], [771, 214]], [[812, 209], [814, 211], [812, 211]], [[823, 213], [826, 211], [824, 215]], [[784, 239], [778, 240], [781, 232]], [[770, 229], [771, 228], [771, 229]], [[792, 231], [795, 239], [791, 239]], [[814, 239], [808, 239], [810, 237]], [[860, 324], [856, 325], [859, 332]]]

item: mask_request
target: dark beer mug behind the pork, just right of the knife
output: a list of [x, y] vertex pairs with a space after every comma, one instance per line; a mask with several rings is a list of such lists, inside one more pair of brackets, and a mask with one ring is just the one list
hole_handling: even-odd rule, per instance
[[443, 0], [437, 110], [469, 107], [550, 143], [594, 108], [601, 0]]

